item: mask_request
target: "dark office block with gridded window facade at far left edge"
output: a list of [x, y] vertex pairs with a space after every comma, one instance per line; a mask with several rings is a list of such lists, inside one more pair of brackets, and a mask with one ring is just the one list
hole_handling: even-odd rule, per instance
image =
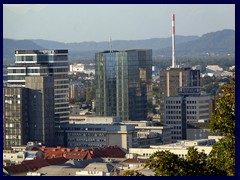
[[28, 142], [28, 90], [20, 87], [3, 88], [4, 149]]

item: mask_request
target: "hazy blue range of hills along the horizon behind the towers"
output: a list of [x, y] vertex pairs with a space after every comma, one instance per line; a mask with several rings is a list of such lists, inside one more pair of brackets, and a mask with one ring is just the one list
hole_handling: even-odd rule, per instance
[[[206, 53], [234, 54], [235, 31], [222, 30], [198, 36], [176, 36], [177, 56], [198, 56]], [[114, 50], [153, 49], [153, 56], [171, 56], [171, 37], [152, 38], [146, 40], [115, 40]], [[96, 52], [109, 49], [109, 42], [62, 43], [49, 40], [12, 40], [3, 39], [3, 57], [14, 59], [17, 49], [68, 49], [71, 59], [93, 59]], [[5, 62], [9, 63], [9, 62]]]

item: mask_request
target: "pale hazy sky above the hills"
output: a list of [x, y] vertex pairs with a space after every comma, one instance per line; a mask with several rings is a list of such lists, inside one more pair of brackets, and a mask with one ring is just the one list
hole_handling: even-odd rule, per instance
[[234, 4], [3, 5], [3, 37], [61, 42], [136, 40], [235, 30]]

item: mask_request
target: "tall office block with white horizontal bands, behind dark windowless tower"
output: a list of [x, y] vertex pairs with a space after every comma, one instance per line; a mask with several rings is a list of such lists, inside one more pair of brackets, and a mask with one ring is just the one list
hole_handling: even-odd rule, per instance
[[16, 50], [8, 67], [8, 87], [25, 87], [27, 76], [53, 76], [55, 127], [68, 122], [68, 50]]

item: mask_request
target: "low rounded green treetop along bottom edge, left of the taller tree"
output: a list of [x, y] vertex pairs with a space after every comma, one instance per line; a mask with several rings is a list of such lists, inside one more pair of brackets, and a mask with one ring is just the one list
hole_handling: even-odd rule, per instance
[[155, 176], [216, 176], [226, 175], [217, 169], [204, 152], [190, 147], [186, 158], [178, 157], [169, 151], [158, 151], [148, 159], [146, 166]]

